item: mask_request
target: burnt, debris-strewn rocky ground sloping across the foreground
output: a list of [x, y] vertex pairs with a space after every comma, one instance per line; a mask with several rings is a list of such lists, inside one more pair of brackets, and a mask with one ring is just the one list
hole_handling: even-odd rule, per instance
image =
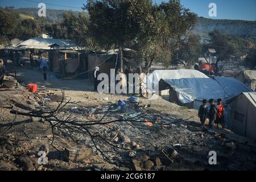
[[[139, 106], [129, 112], [113, 109], [106, 114], [110, 105], [115, 107], [118, 100], [127, 101], [130, 96], [98, 94], [92, 92], [89, 81], [57, 78], [46, 85], [39, 83], [39, 92], [32, 94], [25, 86], [40, 80], [41, 73], [26, 68], [16, 71], [20, 85], [0, 91], [0, 170], [256, 169], [255, 140], [229, 130], [217, 129], [214, 134], [202, 131], [197, 110], [160, 97], [154, 101], [139, 97]], [[103, 139], [92, 139], [82, 127], [76, 127], [74, 132], [74, 128], [68, 130], [63, 125], [52, 127], [55, 122], [43, 117], [10, 113], [54, 110], [63, 98], [61, 89], [64, 102], [71, 102], [60, 111], [67, 121], [117, 121], [86, 126], [93, 137]], [[136, 117], [140, 113], [142, 116]], [[39, 165], [39, 151], [46, 152], [46, 164]], [[216, 151], [217, 165], [209, 165], [209, 151]]]

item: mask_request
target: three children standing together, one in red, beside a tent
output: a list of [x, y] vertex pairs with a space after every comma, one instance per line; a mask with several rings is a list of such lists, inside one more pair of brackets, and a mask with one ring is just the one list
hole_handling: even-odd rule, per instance
[[217, 100], [217, 105], [214, 103], [214, 99], [210, 99], [209, 107], [207, 106], [207, 100], [203, 100], [203, 104], [200, 106], [198, 111], [198, 117], [201, 121], [202, 129], [205, 129], [205, 120], [209, 119], [209, 132], [214, 132], [214, 123], [218, 127], [220, 124], [222, 128], [225, 126], [224, 118], [224, 106], [222, 105], [222, 100], [219, 98]]

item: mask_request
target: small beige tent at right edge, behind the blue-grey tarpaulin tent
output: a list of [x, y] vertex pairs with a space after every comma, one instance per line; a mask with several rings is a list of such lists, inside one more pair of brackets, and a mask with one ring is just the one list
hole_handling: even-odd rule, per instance
[[256, 91], [256, 71], [245, 70], [240, 72], [235, 78], [249, 86], [254, 92]]

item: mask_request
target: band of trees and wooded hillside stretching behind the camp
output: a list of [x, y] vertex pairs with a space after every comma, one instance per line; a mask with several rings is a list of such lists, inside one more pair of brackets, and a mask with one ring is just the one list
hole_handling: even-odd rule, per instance
[[[0, 7], [0, 43], [27, 39], [42, 33], [56, 39], [71, 39], [87, 49], [131, 48], [147, 73], [153, 63], [184, 64], [191, 68], [208, 48], [216, 49], [218, 61], [230, 55], [247, 55], [255, 66], [256, 23], [243, 20], [198, 18], [179, 0], [89, 0], [81, 11]], [[207, 44], [202, 44], [207, 39]]]

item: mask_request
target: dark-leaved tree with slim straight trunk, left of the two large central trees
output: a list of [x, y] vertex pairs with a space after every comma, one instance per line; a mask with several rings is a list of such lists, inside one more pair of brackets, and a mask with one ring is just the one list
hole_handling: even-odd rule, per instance
[[106, 48], [118, 48], [123, 72], [122, 49], [133, 41], [138, 32], [138, 22], [133, 14], [136, 0], [89, 0], [84, 9], [90, 15], [90, 35]]

